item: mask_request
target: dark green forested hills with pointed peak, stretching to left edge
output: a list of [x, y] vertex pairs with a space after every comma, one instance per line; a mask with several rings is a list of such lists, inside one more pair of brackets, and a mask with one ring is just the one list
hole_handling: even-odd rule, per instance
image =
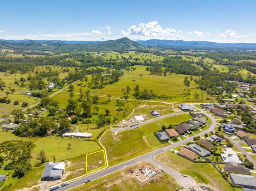
[[140, 45], [128, 38], [117, 40], [102, 41], [100, 43], [63, 43], [63, 42], [36, 42], [36, 41], [21, 41], [7, 42], [0, 41], [0, 49], [14, 50], [32, 50], [32, 51], [52, 51], [54, 53], [65, 53], [72, 51], [131, 51], [131, 50], [147, 50], [144, 45]]

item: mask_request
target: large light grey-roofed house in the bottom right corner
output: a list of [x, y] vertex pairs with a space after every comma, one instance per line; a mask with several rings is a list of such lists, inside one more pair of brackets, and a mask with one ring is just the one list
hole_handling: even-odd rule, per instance
[[255, 176], [230, 173], [230, 180], [234, 182], [234, 185], [256, 189]]

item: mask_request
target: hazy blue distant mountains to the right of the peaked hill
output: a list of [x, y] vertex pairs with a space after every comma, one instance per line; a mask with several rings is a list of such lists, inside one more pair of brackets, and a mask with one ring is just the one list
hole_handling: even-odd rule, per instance
[[137, 43], [155, 47], [189, 47], [189, 48], [228, 48], [228, 49], [256, 49], [256, 43], [217, 43], [210, 41], [183, 41], [183, 40], [140, 40]]

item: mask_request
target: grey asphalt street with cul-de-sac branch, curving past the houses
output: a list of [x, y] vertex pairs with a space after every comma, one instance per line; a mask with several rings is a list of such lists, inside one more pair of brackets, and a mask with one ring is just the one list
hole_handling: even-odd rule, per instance
[[[191, 105], [194, 106], [194, 104], [191, 104]], [[211, 115], [209, 115], [208, 113], [204, 112], [201, 109], [200, 109], [200, 112], [204, 113], [206, 116], [208, 116], [212, 120], [212, 124], [210, 125], [210, 128], [208, 128], [207, 130], [202, 131], [202, 132], [200, 132], [200, 133], [198, 133], [196, 135], [188, 137], [188, 138], [186, 138], [184, 140], [181, 140], [179, 142], [176, 142], [174, 144], [168, 145], [168, 146], [166, 146], [164, 148], [161, 148], [161, 149], [155, 150], [153, 152], [150, 152], [148, 154], [142, 155], [142, 156], [140, 156], [138, 158], [131, 159], [131, 160], [126, 161], [124, 163], [120, 163], [118, 165], [112, 166], [112, 167], [104, 169], [102, 171], [98, 171], [98, 172], [96, 172], [96, 173], [94, 173], [92, 175], [88, 175], [86, 177], [77, 179], [75, 181], [70, 182], [69, 185], [67, 185], [65, 187], [60, 187], [57, 190], [58, 191], [66, 191], [66, 190], [72, 189], [74, 187], [77, 187], [79, 185], [84, 184], [84, 181], [86, 179], [90, 178], [91, 180], [95, 180], [95, 179], [98, 179], [100, 177], [104, 177], [104, 176], [106, 176], [108, 174], [111, 174], [111, 173], [114, 173], [116, 171], [119, 171], [121, 169], [124, 169], [126, 167], [129, 167], [131, 165], [134, 165], [134, 164], [136, 164], [138, 162], [141, 162], [141, 161], [149, 161], [152, 164], [156, 165], [156, 167], [159, 167], [160, 169], [166, 171], [166, 173], [172, 175], [176, 179], [177, 183], [179, 185], [183, 186], [183, 187], [192, 187], [192, 186], [194, 186], [196, 184], [196, 181], [192, 177], [190, 177], [190, 176], [187, 176], [187, 177], [182, 176], [181, 173], [179, 173], [177, 171], [174, 171], [173, 169], [171, 169], [171, 168], [167, 167], [166, 165], [164, 165], [164, 164], [160, 163], [159, 161], [157, 161], [155, 159], [155, 156], [157, 156], [158, 154], [164, 153], [164, 152], [166, 152], [166, 151], [168, 151], [170, 149], [173, 149], [173, 148], [175, 148], [177, 146], [185, 144], [185, 143], [187, 143], [189, 141], [192, 141], [195, 136], [204, 136], [204, 134], [206, 134], [206, 133], [208, 133], [210, 131], [214, 131], [214, 128], [216, 127], [216, 124], [217, 124], [216, 120]], [[178, 115], [178, 114], [180, 114], [180, 113], [176, 113], [176, 115]], [[186, 114], [186, 113], [182, 112], [182, 114]], [[161, 116], [161, 117], [165, 118], [165, 117], [173, 116], [173, 115], [174, 114], [169, 114], [169, 115], [165, 115], [165, 116]], [[150, 122], [155, 121], [155, 120], [159, 120], [159, 119], [161, 119], [161, 117], [154, 118]], [[144, 124], [146, 124], [146, 123], [144, 123]], [[143, 124], [141, 123], [140, 125], [143, 125]], [[132, 127], [132, 128], [134, 128], [134, 127]], [[129, 129], [131, 129], [131, 128], [129, 128]], [[126, 128], [126, 130], [128, 130], [128, 129]]]

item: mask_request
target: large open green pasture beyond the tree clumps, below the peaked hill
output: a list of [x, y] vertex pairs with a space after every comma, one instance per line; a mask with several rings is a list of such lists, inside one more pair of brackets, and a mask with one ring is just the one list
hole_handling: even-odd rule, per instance
[[[197, 92], [201, 95], [202, 91], [200, 89], [196, 89], [197, 85], [194, 81], [190, 82], [190, 86], [186, 87], [183, 84], [184, 78], [187, 75], [167, 75], [164, 76], [156, 76], [150, 75], [148, 71], [146, 71], [146, 66], [135, 66], [136, 70], [124, 73], [124, 76], [120, 78], [120, 81], [114, 83], [112, 85], [106, 85], [102, 89], [91, 89], [91, 93], [96, 93], [98, 95], [108, 95], [122, 97], [122, 89], [126, 86], [129, 86], [132, 91], [129, 95], [132, 98], [132, 94], [134, 93], [133, 89], [136, 85], [139, 85], [140, 90], [148, 89], [153, 90], [153, 92], [158, 95], [167, 95], [172, 96], [168, 101], [174, 102], [200, 102], [201, 100], [194, 98], [194, 93]], [[140, 77], [142, 74], [142, 77]], [[79, 86], [80, 82], [76, 83], [74, 86], [74, 91], [76, 93], [79, 92], [79, 89], [82, 88], [84, 90], [87, 87]], [[189, 96], [186, 96], [187, 93], [190, 93]]]

